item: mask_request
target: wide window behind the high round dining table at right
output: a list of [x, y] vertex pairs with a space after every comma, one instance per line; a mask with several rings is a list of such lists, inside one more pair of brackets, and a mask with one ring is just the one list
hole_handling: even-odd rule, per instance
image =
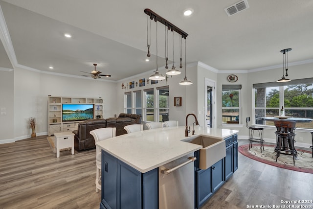
[[[262, 117], [279, 116], [282, 106], [285, 116], [313, 118], [313, 78], [254, 84], [253, 89], [256, 124], [274, 125]], [[312, 129], [313, 122], [297, 122], [296, 127]]]

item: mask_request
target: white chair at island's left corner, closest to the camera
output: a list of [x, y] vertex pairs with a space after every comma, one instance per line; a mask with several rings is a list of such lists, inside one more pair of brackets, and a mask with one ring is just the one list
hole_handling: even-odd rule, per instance
[[[89, 132], [94, 139], [94, 142], [99, 142], [105, 139], [110, 139], [115, 137], [116, 128], [108, 127], [108, 128], [98, 128]], [[96, 192], [98, 189], [101, 190], [101, 148], [96, 146]]]

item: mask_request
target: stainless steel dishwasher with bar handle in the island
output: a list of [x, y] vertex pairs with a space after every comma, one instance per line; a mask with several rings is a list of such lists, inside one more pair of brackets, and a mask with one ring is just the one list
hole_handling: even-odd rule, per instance
[[159, 209], [195, 208], [193, 153], [158, 168]]

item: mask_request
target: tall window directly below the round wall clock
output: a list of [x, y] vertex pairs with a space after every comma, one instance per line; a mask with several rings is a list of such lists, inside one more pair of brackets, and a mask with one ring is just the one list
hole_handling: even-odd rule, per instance
[[222, 124], [239, 123], [241, 85], [222, 85]]

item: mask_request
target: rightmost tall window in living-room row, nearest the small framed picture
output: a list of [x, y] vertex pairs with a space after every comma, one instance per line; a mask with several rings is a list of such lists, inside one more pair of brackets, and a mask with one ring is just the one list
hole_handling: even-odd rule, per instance
[[170, 112], [170, 101], [169, 101], [169, 87], [159, 87], [156, 88], [158, 95], [158, 108], [157, 113], [159, 115], [159, 121], [167, 121], [169, 120], [169, 112]]

